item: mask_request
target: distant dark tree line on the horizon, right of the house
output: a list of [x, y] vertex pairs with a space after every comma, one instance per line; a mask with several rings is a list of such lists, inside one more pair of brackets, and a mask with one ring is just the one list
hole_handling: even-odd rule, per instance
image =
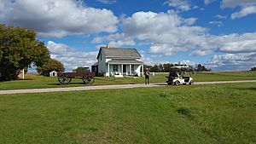
[[[145, 68], [148, 68], [150, 72], [170, 72], [172, 66], [187, 66], [185, 64], [172, 64], [172, 63], [166, 63], [166, 64], [160, 64], [160, 65], [144, 65]], [[187, 72], [210, 72], [211, 69], [208, 69], [206, 66], [203, 66], [202, 64], [198, 64], [195, 66], [189, 66], [186, 68]]]

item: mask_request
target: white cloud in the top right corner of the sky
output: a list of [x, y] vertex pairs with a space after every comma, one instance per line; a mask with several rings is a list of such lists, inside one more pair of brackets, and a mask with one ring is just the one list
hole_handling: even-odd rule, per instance
[[223, 0], [220, 7], [225, 8], [236, 8], [240, 10], [231, 14], [231, 19], [237, 19], [248, 14], [256, 14], [256, 1], [255, 0]]

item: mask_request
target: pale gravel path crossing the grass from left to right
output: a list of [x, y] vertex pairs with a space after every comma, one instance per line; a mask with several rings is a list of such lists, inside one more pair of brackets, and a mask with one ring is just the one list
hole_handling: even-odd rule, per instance
[[[228, 83], [252, 83], [256, 80], [239, 80], [239, 81], [218, 81], [218, 82], [195, 82], [195, 84], [228, 84]], [[164, 86], [166, 83], [154, 84], [119, 84], [119, 85], [98, 85], [98, 86], [84, 86], [84, 87], [69, 87], [69, 88], [49, 88], [49, 89], [15, 89], [15, 90], [0, 90], [0, 95], [4, 94], [24, 94], [24, 93], [45, 93], [57, 91], [75, 91], [75, 90], [94, 90], [94, 89], [128, 89], [128, 88], [142, 88], [142, 87], [157, 87]]]

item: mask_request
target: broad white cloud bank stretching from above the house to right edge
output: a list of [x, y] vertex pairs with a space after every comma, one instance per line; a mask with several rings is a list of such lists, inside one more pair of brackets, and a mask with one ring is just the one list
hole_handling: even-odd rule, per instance
[[[131, 17], [123, 18], [123, 33], [96, 37], [93, 42], [134, 45], [136, 40], [138, 43], [150, 45], [148, 53], [163, 55], [175, 55], [178, 51], [189, 50], [193, 51], [191, 55], [209, 55], [213, 52], [245, 53], [256, 50], [253, 46], [256, 45], [256, 33], [211, 35], [207, 33], [207, 28], [195, 26], [195, 22], [195, 18], [183, 19], [172, 10], [166, 13], [137, 12]], [[210, 23], [222, 25], [221, 21]]]

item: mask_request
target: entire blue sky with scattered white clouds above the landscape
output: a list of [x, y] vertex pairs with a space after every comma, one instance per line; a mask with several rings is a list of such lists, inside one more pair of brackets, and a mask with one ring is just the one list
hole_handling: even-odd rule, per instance
[[67, 71], [107, 43], [137, 48], [149, 65], [256, 66], [256, 0], [0, 0], [0, 22], [38, 32]]

